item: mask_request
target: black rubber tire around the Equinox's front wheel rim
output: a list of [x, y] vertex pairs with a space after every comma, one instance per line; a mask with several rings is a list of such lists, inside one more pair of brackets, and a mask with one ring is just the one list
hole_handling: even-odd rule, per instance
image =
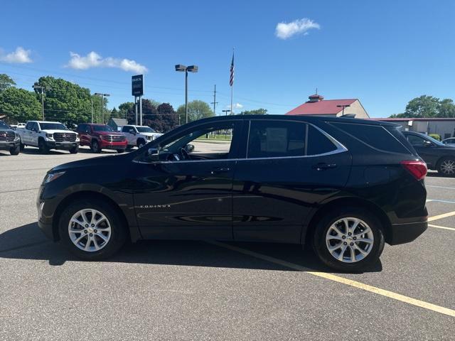
[[[87, 212], [85, 217], [89, 224], [83, 224], [81, 211]], [[92, 226], [89, 220], [92, 220], [91, 212], [95, 211], [95, 220], [99, 220], [101, 215], [104, 215], [106, 220]], [[79, 220], [82, 224], [70, 222], [72, 219]], [[80, 232], [70, 233], [70, 229]], [[95, 231], [97, 232], [95, 233]], [[60, 216], [58, 232], [60, 241], [65, 247], [68, 247], [77, 257], [90, 261], [109, 258], [119, 251], [127, 240], [126, 227], [122, 226], [122, 220], [116, 210], [106, 202], [97, 199], [78, 200], [66, 207]], [[100, 234], [104, 237], [102, 238]], [[77, 239], [79, 240], [77, 241]], [[105, 241], [106, 239], [107, 241]]]

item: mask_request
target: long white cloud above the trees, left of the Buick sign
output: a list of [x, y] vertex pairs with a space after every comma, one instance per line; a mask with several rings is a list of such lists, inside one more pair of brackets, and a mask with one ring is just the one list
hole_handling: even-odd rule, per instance
[[70, 52], [70, 60], [66, 67], [71, 67], [77, 70], [87, 70], [90, 67], [117, 67], [124, 71], [144, 73], [147, 68], [144, 65], [137, 63], [135, 60], [120, 59], [120, 58], [102, 58], [101, 55], [95, 51], [87, 53], [87, 55], [78, 55], [77, 53]]

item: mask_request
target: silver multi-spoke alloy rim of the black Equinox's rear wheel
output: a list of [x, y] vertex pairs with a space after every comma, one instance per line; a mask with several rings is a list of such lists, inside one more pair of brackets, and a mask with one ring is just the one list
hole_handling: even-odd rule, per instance
[[373, 249], [373, 231], [366, 222], [354, 217], [337, 220], [328, 228], [326, 247], [333, 258], [343, 263], [364, 259]]

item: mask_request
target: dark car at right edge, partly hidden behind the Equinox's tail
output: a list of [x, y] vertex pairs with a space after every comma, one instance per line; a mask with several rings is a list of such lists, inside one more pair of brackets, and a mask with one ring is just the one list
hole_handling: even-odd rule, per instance
[[427, 163], [429, 169], [438, 171], [441, 175], [455, 176], [454, 146], [447, 146], [431, 136], [421, 133], [403, 131], [403, 134]]

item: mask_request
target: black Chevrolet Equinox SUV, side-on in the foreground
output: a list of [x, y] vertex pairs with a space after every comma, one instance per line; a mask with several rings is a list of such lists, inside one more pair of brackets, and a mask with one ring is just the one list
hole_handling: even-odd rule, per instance
[[427, 229], [427, 167], [397, 129], [328, 117], [201, 119], [132, 153], [51, 169], [38, 224], [84, 259], [111, 256], [127, 239], [221, 239], [309, 244], [328, 266], [359, 271], [385, 242]]

